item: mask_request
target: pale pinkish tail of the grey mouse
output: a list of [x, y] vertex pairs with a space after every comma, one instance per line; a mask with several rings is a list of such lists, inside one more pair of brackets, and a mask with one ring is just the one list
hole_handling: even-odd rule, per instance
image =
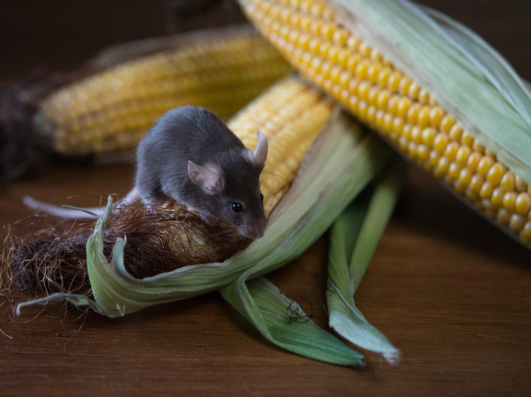
[[[140, 193], [135, 188], [118, 201], [115, 212], [120, 208], [132, 205], [140, 199]], [[105, 207], [85, 207], [77, 208], [71, 206], [58, 206], [48, 202], [36, 200], [30, 196], [24, 196], [22, 202], [28, 208], [36, 211], [42, 211], [49, 215], [57, 216], [63, 219], [98, 219], [105, 213]]]

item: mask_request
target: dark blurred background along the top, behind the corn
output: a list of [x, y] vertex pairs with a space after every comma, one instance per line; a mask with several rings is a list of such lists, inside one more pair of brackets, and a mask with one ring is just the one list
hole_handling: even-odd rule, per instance
[[[160, 36], [196, 27], [243, 21], [237, 5], [216, 2], [201, 15], [175, 17], [169, 0], [0, 1], [0, 76], [27, 73], [36, 65], [75, 67], [117, 42]], [[188, 3], [194, 3], [189, 1]], [[195, 2], [201, 3], [201, 2]], [[526, 78], [531, 47], [527, 0], [423, 0], [477, 31]], [[175, 9], [175, 7], [173, 8]]]

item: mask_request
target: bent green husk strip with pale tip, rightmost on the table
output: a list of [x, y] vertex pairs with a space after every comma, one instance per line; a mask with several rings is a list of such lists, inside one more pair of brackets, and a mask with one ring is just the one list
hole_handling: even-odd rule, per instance
[[356, 292], [398, 198], [407, 163], [398, 157], [332, 225], [328, 266], [329, 325], [355, 345], [398, 364], [400, 352], [354, 304]]

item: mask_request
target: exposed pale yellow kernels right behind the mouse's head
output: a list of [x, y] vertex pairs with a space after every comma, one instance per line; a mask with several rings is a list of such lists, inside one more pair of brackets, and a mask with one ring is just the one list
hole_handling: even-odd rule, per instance
[[260, 176], [266, 214], [284, 195], [308, 147], [330, 119], [332, 102], [304, 82], [285, 78], [227, 123], [250, 149], [256, 146], [257, 130], [268, 138], [268, 156]]

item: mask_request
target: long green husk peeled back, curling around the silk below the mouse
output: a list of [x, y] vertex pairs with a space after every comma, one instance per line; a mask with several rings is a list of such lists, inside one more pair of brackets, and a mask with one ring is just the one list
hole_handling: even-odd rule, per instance
[[246, 269], [253, 277], [265, 274], [296, 258], [331, 225], [359, 191], [386, 164], [391, 149], [378, 137], [363, 131], [343, 113], [336, 113], [307, 153], [292, 187], [271, 214], [262, 239], [221, 263], [187, 266], [153, 277], [135, 279], [123, 263], [124, 239], [117, 239], [112, 259], [103, 253], [105, 225], [113, 210], [95, 227], [87, 243], [87, 266], [94, 300], [57, 293], [23, 302], [28, 304], [68, 299], [90, 305], [109, 317], [203, 294], [231, 283]]

